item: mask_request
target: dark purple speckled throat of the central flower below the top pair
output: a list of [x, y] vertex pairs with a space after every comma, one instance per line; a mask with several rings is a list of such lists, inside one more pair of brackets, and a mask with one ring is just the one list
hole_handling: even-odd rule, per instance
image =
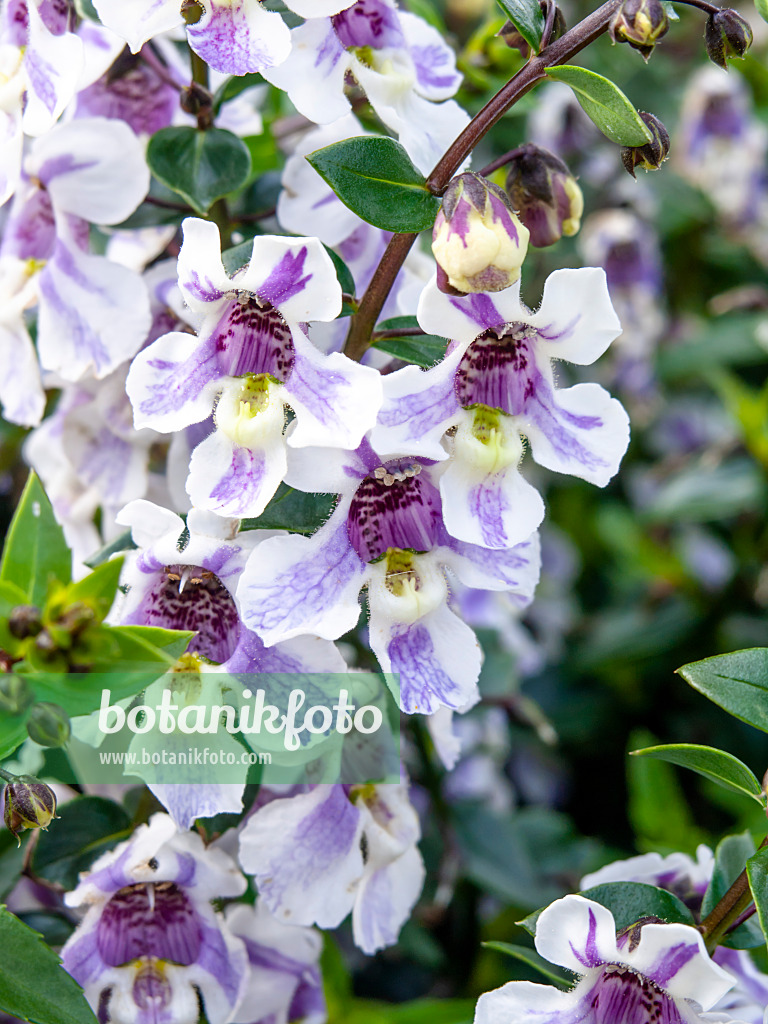
[[347, 517], [349, 543], [366, 562], [388, 548], [430, 551], [442, 521], [440, 495], [406, 459], [380, 466], [357, 487]]

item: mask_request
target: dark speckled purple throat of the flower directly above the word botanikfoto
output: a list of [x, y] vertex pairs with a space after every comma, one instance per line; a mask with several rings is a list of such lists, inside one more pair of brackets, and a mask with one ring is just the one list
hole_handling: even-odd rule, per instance
[[226, 662], [238, 645], [240, 616], [229, 591], [200, 565], [166, 565], [143, 603], [145, 626], [195, 630], [189, 651]]

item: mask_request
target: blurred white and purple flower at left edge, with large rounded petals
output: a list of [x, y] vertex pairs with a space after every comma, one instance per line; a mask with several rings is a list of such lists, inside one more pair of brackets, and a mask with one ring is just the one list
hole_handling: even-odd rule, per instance
[[33, 304], [33, 284], [40, 366], [60, 379], [105, 377], [146, 338], [152, 317], [143, 282], [135, 271], [90, 253], [89, 224], [115, 224], [129, 216], [146, 195], [150, 172], [131, 129], [105, 118], [53, 128], [31, 146], [25, 172], [0, 258], [16, 261], [23, 270], [14, 318], [3, 317], [3, 340], [15, 341], [28, 354], [3, 361], [0, 393], [6, 417], [32, 425], [42, 412], [37, 358], [29, 354], [32, 341], [23, 316]]

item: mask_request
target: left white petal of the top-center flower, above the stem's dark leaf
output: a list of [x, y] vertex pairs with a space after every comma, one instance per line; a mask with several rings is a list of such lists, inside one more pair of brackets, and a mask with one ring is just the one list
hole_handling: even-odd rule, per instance
[[349, 113], [344, 77], [351, 58], [330, 18], [313, 17], [291, 33], [293, 49], [264, 78], [288, 93], [300, 114], [315, 124], [331, 124]]

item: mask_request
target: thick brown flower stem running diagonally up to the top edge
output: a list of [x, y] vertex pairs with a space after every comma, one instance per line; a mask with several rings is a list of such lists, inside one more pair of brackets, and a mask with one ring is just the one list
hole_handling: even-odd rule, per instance
[[[441, 196], [464, 161], [497, 121], [521, 96], [547, 77], [547, 68], [565, 63], [585, 46], [589, 46], [598, 36], [602, 35], [621, 6], [621, 2], [622, 0], [608, 0], [602, 7], [593, 11], [583, 22], [566, 32], [564, 36], [547, 46], [538, 56], [531, 57], [485, 103], [461, 135], [449, 146], [427, 178], [426, 187], [434, 196]], [[387, 246], [362, 297], [359, 309], [352, 316], [349, 325], [344, 352], [351, 359], [359, 360], [370, 346], [376, 321], [416, 239], [417, 236], [412, 233], [394, 234]]]

